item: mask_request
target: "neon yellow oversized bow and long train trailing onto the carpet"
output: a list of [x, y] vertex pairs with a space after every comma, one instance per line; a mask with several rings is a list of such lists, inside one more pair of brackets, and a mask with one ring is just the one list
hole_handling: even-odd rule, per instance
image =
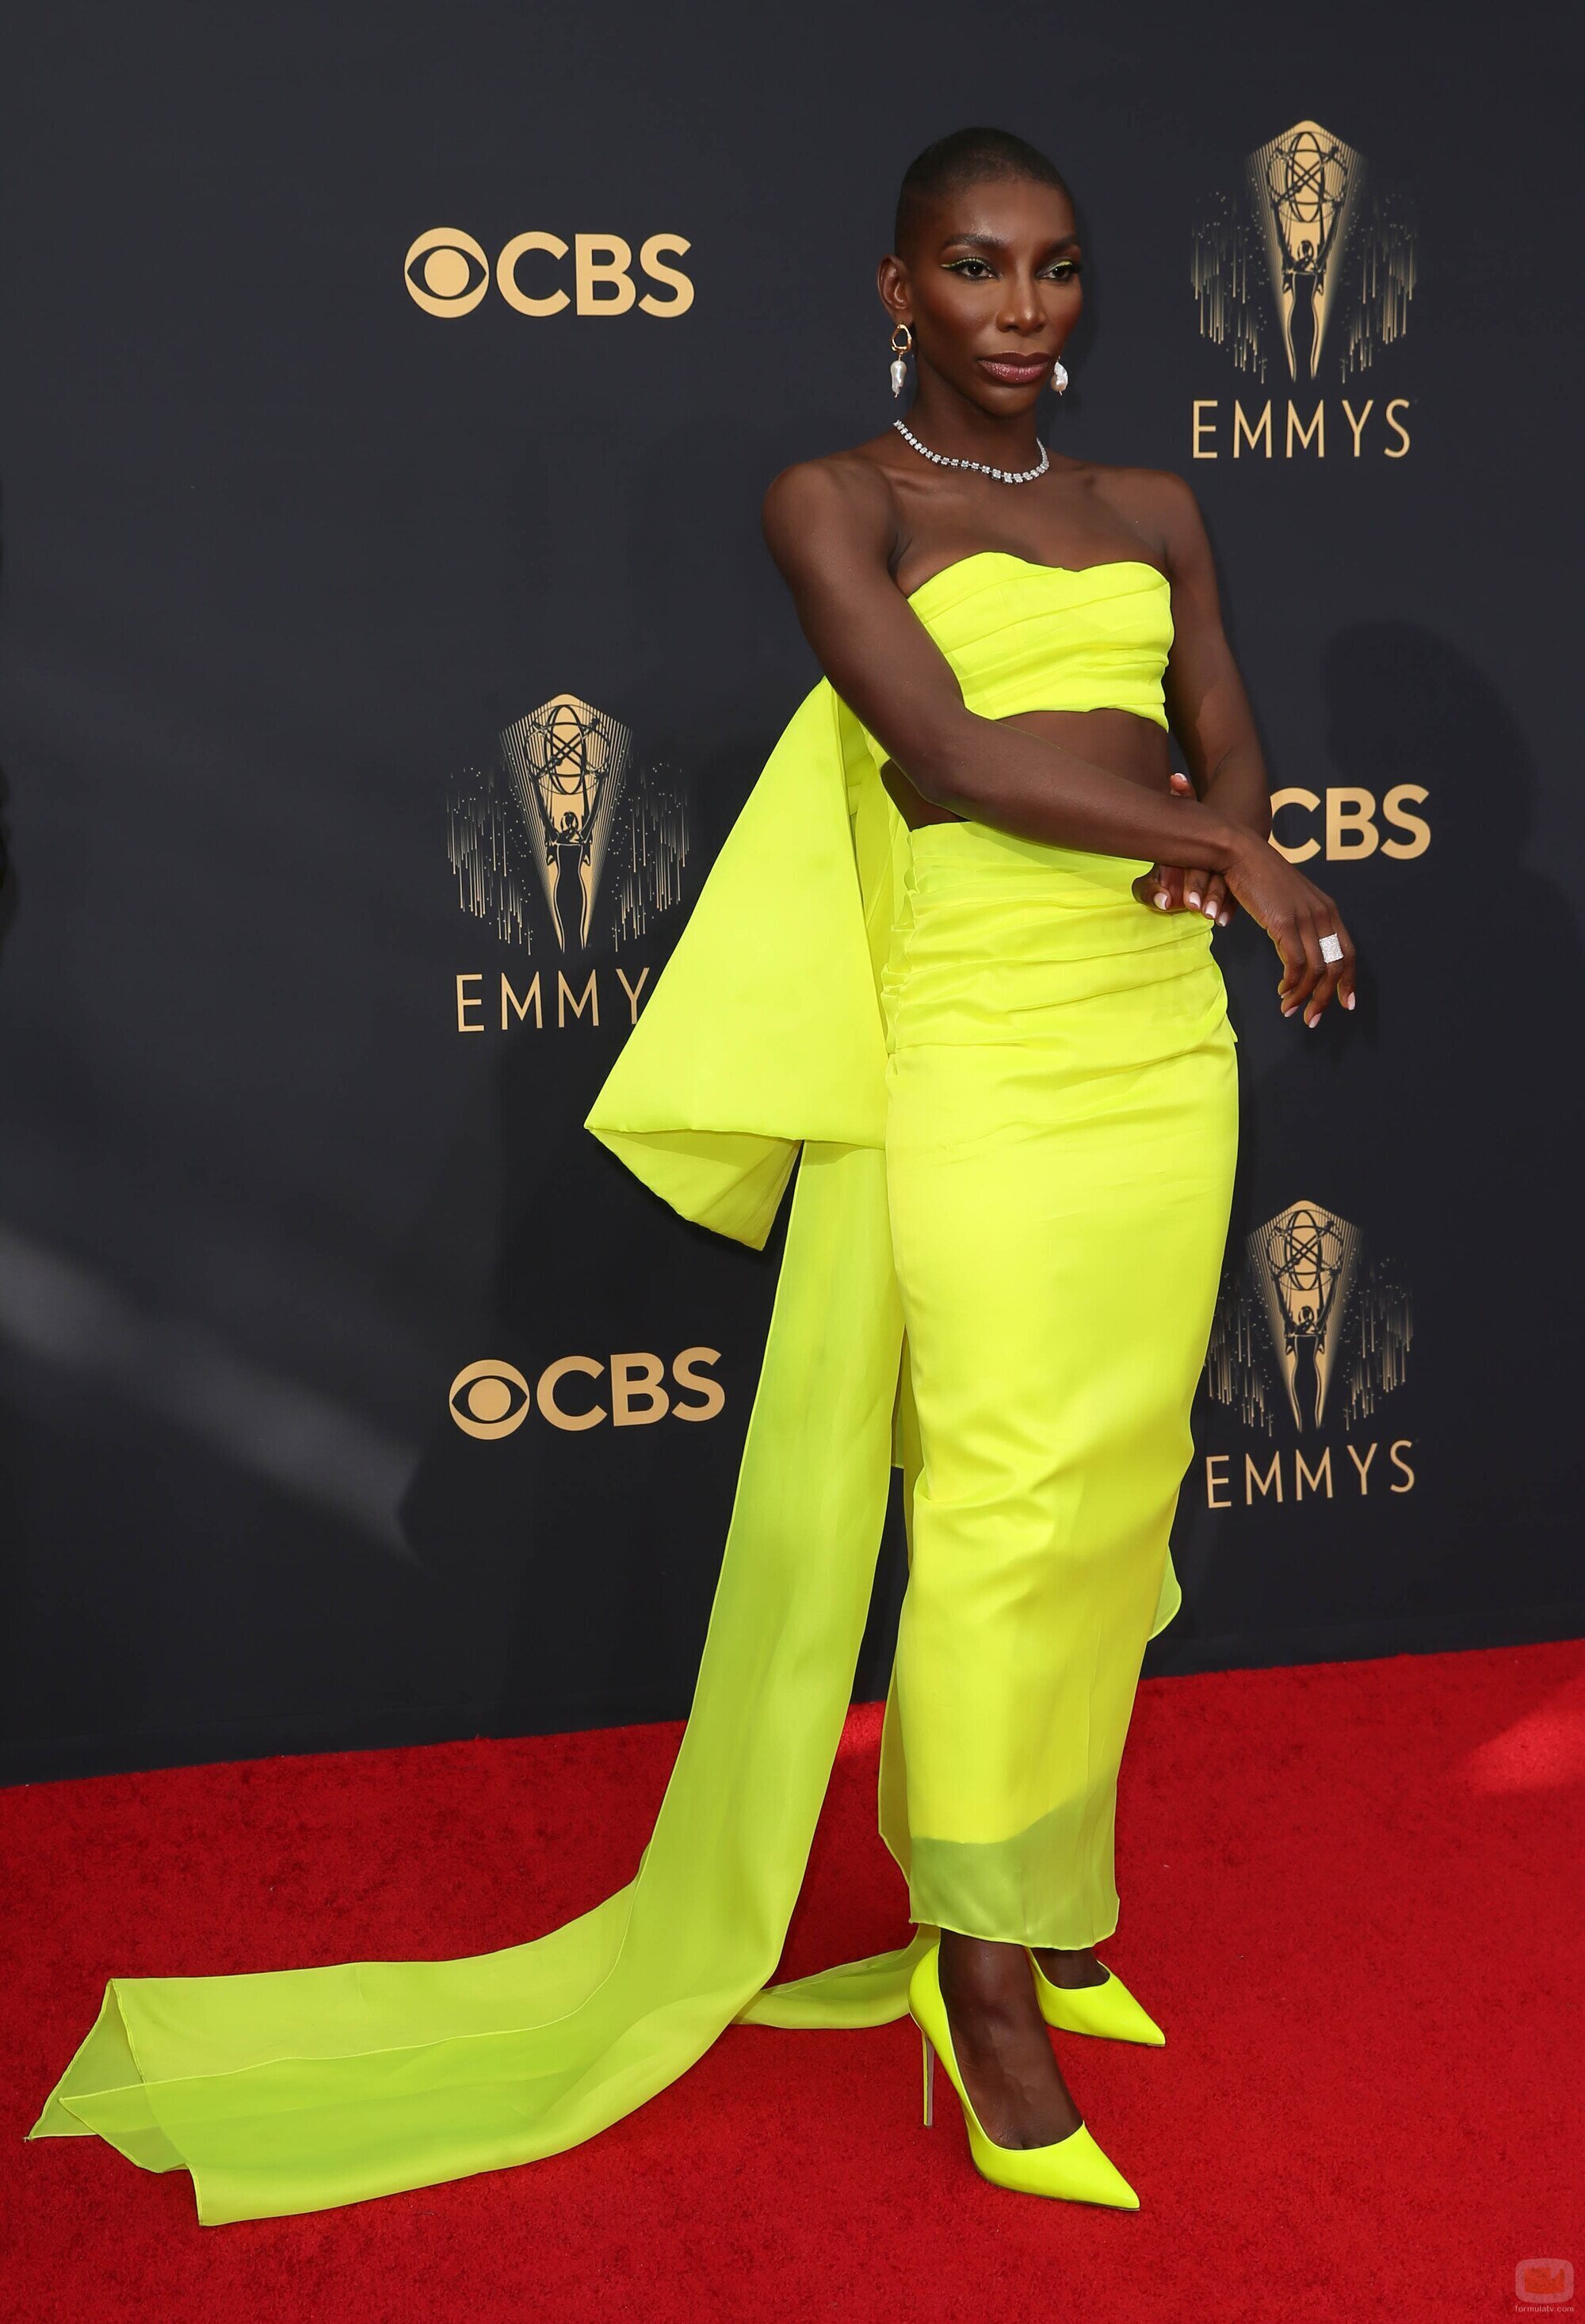
[[[974, 562], [960, 588], [983, 597]], [[1016, 588], [981, 604], [985, 639]], [[948, 576], [934, 602], [955, 602]], [[1055, 679], [1046, 700], [1060, 704]], [[904, 862], [865, 732], [820, 683], [588, 1116], [676, 1211], [755, 1248], [797, 1169], [693, 1710], [630, 1885], [458, 1961], [112, 1978], [30, 2136], [98, 2133], [142, 2168], [184, 2168], [207, 2224], [323, 2210], [572, 2147], [732, 2022], [906, 2010], [930, 1929], [769, 1985], [851, 1699], [890, 1466], [918, 1457], [878, 1006]], [[1150, 1634], [1178, 1604], [1169, 1557]]]

